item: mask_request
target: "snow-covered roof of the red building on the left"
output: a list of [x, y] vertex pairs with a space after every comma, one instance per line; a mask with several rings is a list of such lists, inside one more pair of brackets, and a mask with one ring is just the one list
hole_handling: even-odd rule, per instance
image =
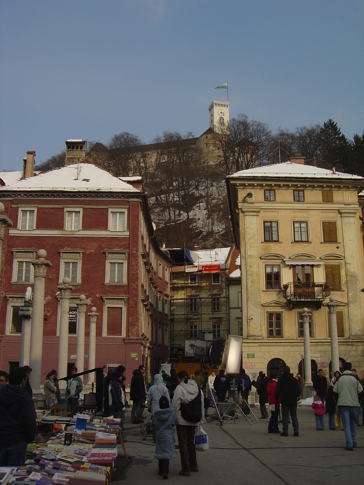
[[[20, 177], [12, 174], [20, 174]], [[91, 163], [66, 165], [25, 180], [20, 179], [23, 175], [22, 172], [3, 172], [2, 175], [4, 178], [0, 173], [0, 178], [5, 182], [5, 186], [0, 188], [1, 192], [15, 190], [140, 192], [127, 182], [113, 177]]]

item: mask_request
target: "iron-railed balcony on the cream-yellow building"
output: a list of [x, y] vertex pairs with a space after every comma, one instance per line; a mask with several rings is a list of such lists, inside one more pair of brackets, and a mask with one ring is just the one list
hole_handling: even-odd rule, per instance
[[330, 296], [327, 283], [287, 283], [283, 285], [284, 297], [287, 298], [291, 308], [307, 304], [314, 304], [321, 308], [325, 298]]

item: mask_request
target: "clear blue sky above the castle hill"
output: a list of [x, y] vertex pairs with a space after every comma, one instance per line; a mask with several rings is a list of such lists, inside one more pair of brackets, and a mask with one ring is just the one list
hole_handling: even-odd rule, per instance
[[0, 169], [67, 138], [163, 130], [230, 116], [294, 130], [364, 129], [363, 1], [0, 1]]

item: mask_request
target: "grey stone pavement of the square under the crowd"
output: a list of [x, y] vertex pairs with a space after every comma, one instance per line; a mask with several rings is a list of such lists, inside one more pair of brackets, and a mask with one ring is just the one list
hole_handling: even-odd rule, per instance
[[[177, 458], [169, 462], [169, 480], [181, 484], [227, 482], [229, 485], [364, 483], [364, 427], [358, 428], [357, 447], [353, 452], [347, 452], [344, 450], [344, 432], [329, 430], [327, 415], [326, 430], [315, 430], [311, 407], [298, 406], [298, 437], [293, 436], [291, 425], [288, 437], [269, 435], [268, 420], [259, 419], [259, 409], [253, 408], [253, 411], [259, 422], [250, 419], [249, 415], [252, 426], [242, 417], [235, 422], [224, 420], [223, 426], [216, 424], [217, 421], [205, 421], [202, 427], [209, 436], [210, 450], [197, 453], [199, 472], [191, 472], [190, 477], [180, 476], [181, 461], [177, 450]], [[148, 416], [146, 422], [147, 419]], [[140, 425], [132, 425], [128, 419], [125, 428], [128, 439], [125, 447], [132, 457], [132, 464], [124, 469], [115, 483], [160, 483], [163, 479], [158, 475], [151, 434], [143, 441]], [[176, 434], [175, 439], [177, 444]], [[122, 453], [121, 446], [119, 448]]]

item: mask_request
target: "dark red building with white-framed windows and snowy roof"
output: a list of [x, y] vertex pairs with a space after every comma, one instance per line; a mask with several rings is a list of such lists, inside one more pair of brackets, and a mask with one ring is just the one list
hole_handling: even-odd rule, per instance
[[52, 266], [45, 284], [42, 380], [58, 365], [58, 285], [65, 276], [74, 287], [69, 366], [76, 361], [76, 303], [84, 294], [90, 300], [85, 370], [87, 313], [95, 306], [96, 367], [124, 365], [127, 387], [140, 364], [147, 378], [156, 372], [169, 358], [170, 259], [155, 240], [142, 180], [121, 180], [80, 162], [25, 179], [20, 172], [18, 177], [3, 173], [0, 183], [3, 215], [13, 223], [5, 230], [1, 253], [0, 369], [8, 372], [19, 361], [18, 311], [33, 285], [31, 260], [45, 249]]

